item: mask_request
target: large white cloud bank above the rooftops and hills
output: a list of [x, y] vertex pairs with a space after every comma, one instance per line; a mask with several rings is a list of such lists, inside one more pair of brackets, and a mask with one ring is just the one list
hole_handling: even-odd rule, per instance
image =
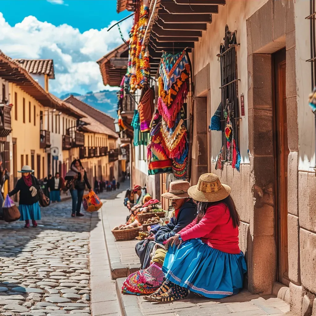
[[[59, 0], [50, 0], [60, 2]], [[60, 3], [61, 4], [61, 3]], [[115, 23], [112, 21], [110, 26]], [[132, 20], [120, 23], [124, 38], [128, 38]], [[122, 44], [117, 27], [90, 29], [80, 33], [67, 24], [55, 26], [27, 16], [10, 26], [0, 12], [0, 49], [11, 58], [53, 59], [55, 80], [50, 80], [50, 91], [61, 95], [68, 92], [85, 93], [104, 87], [97, 59]]]

